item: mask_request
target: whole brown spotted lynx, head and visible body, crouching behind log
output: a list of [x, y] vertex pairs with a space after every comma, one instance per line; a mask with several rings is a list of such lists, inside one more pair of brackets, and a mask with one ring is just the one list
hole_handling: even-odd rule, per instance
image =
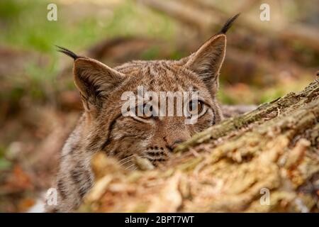
[[[225, 33], [237, 16], [181, 60], [133, 61], [111, 68], [60, 48], [74, 59], [74, 82], [84, 113], [62, 148], [55, 184], [57, 205], [47, 206], [47, 211], [72, 211], [81, 204], [94, 183], [90, 161], [97, 151], [117, 157], [133, 170], [133, 155], [157, 166], [169, 159], [179, 143], [223, 119], [216, 100], [218, 76], [225, 57]], [[138, 86], [152, 92], [198, 92], [198, 100], [189, 101], [189, 109], [198, 115], [196, 123], [185, 124], [184, 116], [123, 116], [121, 95]]]

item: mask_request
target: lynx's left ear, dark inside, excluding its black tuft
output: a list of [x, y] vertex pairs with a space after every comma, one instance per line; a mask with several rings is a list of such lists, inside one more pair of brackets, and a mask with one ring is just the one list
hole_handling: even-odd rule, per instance
[[121, 72], [88, 57], [74, 60], [73, 74], [86, 109], [101, 106], [103, 99], [125, 78]]

